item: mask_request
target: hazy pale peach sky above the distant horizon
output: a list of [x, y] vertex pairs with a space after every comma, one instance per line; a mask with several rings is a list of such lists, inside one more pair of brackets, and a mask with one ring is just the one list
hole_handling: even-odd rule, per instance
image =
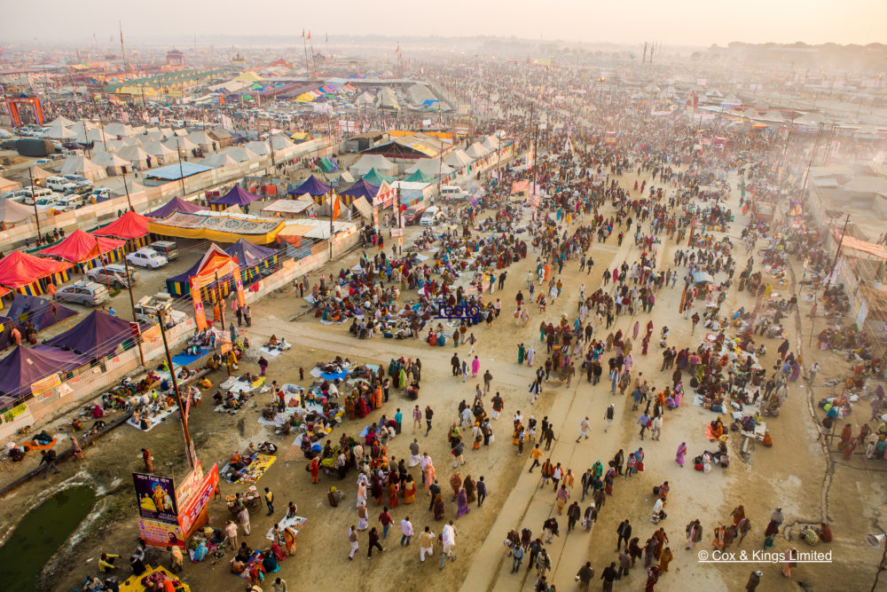
[[[709, 45], [887, 41], [887, 0], [4, 0], [0, 45], [194, 34], [519, 36]], [[198, 40], [200, 43], [200, 39]], [[119, 43], [119, 38], [117, 39]], [[408, 49], [408, 48], [405, 48]]]

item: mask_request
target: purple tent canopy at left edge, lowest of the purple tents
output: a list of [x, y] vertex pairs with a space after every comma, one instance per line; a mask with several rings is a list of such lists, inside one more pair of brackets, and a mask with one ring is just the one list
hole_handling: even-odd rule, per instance
[[56, 372], [69, 372], [89, 363], [71, 351], [47, 345], [19, 346], [0, 360], [0, 393], [11, 397], [30, 394], [31, 384]]

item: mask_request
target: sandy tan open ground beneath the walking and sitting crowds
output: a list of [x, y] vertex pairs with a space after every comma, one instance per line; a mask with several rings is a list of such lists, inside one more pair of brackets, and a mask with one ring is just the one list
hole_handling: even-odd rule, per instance
[[[626, 175], [624, 185], [631, 186], [633, 180], [633, 176]], [[738, 211], [738, 195], [734, 196], [732, 205], [734, 211]], [[744, 218], [737, 216], [732, 232], [736, 239], [743, 222]], [[408, 232], [408, 237], [409, 235]], [[736, 244], [739, 245], [736, 258], [744, 261], [747, 257], [743, 252], [744, 248], [738, 241]], [[676, 248], [671, 242], [666, 242], [663, 246], [663, 269], [671, 262], [673, 249]], [[626, 259], [631, 263], [639, 253], [630, 240], [624, 241], [623, 246], [616, 249], [616, 240], [613, 237], [605, 245], [594, 243], [592, 254], [595, 266], [590, 275], [580, 276], [576, 262], [567, 264], [563, 274], [564, 294], [549, 306], [545, 314], [546, 320], [557, 320], [561, 312], [567, 313], [569, 319], [572, 319], [581, 282], [585, 282], [586, 291], [591, 292], [597, 288], [600, 273], [606, 265], [621, 264]], [[344, 261], [334, 264], [334, 271], [353, 265], [357, 257], [359, 251], [352, 252]], [[557, 440], [551, 451], [552, 459], [553, 462], [561, 462], [577, 476], [574, 496], [581, 493], [579, 476], [596, 460], [607, 462], [618, 448], [624, 448], [627, 454], [637, 446], [644, 446], [647, 454], [647, 470], [644, 473], [631, 480], [617, 479], [614, 496], [608, 499], [602, 509], [591, 535], [566, 534], [566, 517], [561, 519], [561, 537], [548, 546], [548, 552], [553, 557], [553, 573], [549, 575], [549, 580], [557, 588], [574, 589], [574, 576], [585, 561], [592, 562], [600, 577], [603, 567], [616, 560], [612, 541], [616, 539], [616, 525], [625, 517], [634, 525], [633, 536], [639, 536], [641, 542], [645, 541], [654, 530], [654, 526], [648, 521], [653, 502], [652, 487], [666, 479], [671, 483], [671, 494], [666, 506], [669, 516], [662, 526], [671, 537], [670, 546], [675, 560], [670, 572], [659, 580], [657, 589], [677, 590], [687, 586], [693, 589], [742, 589], [749, 572], [754, 569], [764, 572], [760, 589], [766, 590], [797, 589], [800, 581], [808, 589], [859, 589], [871, 585], [880, 552], [869, 548], [863, 537], [867, 532], [881, 532], [878, 520], [883, 512], [885, 497], [882, 481], [877, 473], [883, 469], [878, 463], [865, 461], [859, 454], [851, 462], [839, 460], [840, 457], [836, 454], [824, 454], [823, 448], [815, 442], [816, 431], [811, 421], [812, 407], [806, 385], [792, 383], [789, 399], [782, 407], [781, 416], [768, 418], [768, 427], [773, 433], [775, 443], [773, 448], [752, 446], [750, 457], [743, 462], [738, 454], [740, 442], [732, 441], [731, 467], [728, 470], [715, 467], [707, 476], [689, 466], [680, 469], [673, 460], [674, 451], [681, 441], [687, 441], [688, 459], [701, 454], [705, 448], [711, 448], [704, 438], [703, 429], [704, 423], [713, 419], [713, 415], [701, 407], [693, 407], [690, 397], [684, 399], [682, 407], [665, 415], [663, 436], [657, 442], [649, 438], [640, 440], [635, 423], [638, 414], [631, 411], [630, 405], [625, 404], [629, 400], [628, 396], [611, 397], [608, 394], [608, 385], [604, 383], [594, 388], [579, 380], [574, 381], [570, 388], [549, 383], [536, 406], [530, 407], [527, 384], [530, 383], [534, 369], [516, 364], [516, 343], [538, 344], [537, 328], [540, 317], [534, 311], [527, 328], [515, 328], [510, 312], [513, 310], [514, 294], [523, 283], [522, 275], [534, 264], [535, 257], [531, 254], [509, 268], [505, 290], [493, 295], [503, 298], [503, 310], [507, 316], [503, 314], [491, 329], [477, 328], [475, 331], [479, 340], [475, 353], [482, 361], [481, 372], [483, 374], [485, 369], [490, 369], [493, 375], [492, 387], [502, 392], [506, 400], [506, 411], [498, 422], [493, 423], [497, 441], [489, 448], [482, 448], [477, 452], [468, 450], [467, 464], [460, 468], [463, 477], [467, 474], [474, 478], [483, 475], [489, 484], [490, 494], [483, 508], [473, 507], [470, 514], [456, 522], [459, 533], [457, 560], [447, 563], [443, 571], [438, 570], [437, 561], [427, 560], [425, 564], [420, 564], [419, 549], [415, 541], [409, 549], [400, 549], [396, 544], [399, 536], [395, 525], [388, 540], [383, 541], [383, 546], [388, 549], [385, 553], [381, 556], [374, 554], [373, 559], [367, 561], [364, 553], [366, 538], [361, 535], [360, 551], [356, 560], [349, 562], [348, 527], [357, 523], [353, 475], [349, 475], [341, 483], [335, 483], [346, 493], [346, 499], [339, 508], [334, 509], [326, 502], [326, 490], [334, 481], [322, 478], [321, 485], [312, 486], [303, 463], [293, 462], [287, 465], [281, 457], [258, 485], [260, 488], [271, 487], [276, 493], [276, 517], [281, 517], [287, 501], [293, 500], [299, 506], [300, 515], [309, 518], [309, 523], [299, 535], [297, 556], [284, 562], [277, 575], [288, 580], [291, 587], [295, 585], [296, 589], [300, 588], [302, 582], [318, 582], [325, 587], [336, 582], [337, 588], [341, 589], [530, 589], [535, 580], [533, 572], [528, 574], [522, 569], [518, 575], [510, 574], [511, 561], [506, 557], [502, 541], [511, 528], [527, 526], [535, 534], [540, 534], [542, 522], [553, 512], [556, 513], [556, 509], [553, 508], [554, 496], [551, 489], [538, 488], [538, 470], [532, 475], [527, 473], [529, 454], [517, 456], [516, 449], [510, 442], [510, 417], [516, 409], [521, 409], [525, 417], [534, 414], [541, 419], [547, 414], [553, 420]], [[316, 280], [316, 277], [312, 275], [310, 279]], [[671, 343], [678, 347], [691, 344], [695, 346], [699, 332], [691, 337], [689, 321], [679, 319], [676, 313], [679, 296], [679, 288], [663, 289], [657, 296], [657, 304], [652, 313], [655, 335], [658, 335], [662, 324], [666, 323], [671, 328]], [[722, 311], [732, 311], [742, 304], [750, 304], [748, 294], [731, 293]], [[431, 348], [420, 340], [392, 342], [378, 337], [370, 341], [357, 341], [347, 333], [346, 326], [323, 326], [312, 315], [300, 317], [306, 310], [307, 305], [301, 299], [295, 299], [288, 290], [281, 290], [253, 307], [254, 325], [249, 335], [255, 343], [263, 341], [272, 333], [284, 335], [288, 341], [294, 343], [293, 350], [271, 361], [271, 379], [279, 383], [298, 383], [299, 367], [304, 367], [307, 374], [307, 370], [315, 362], [326, 361], [335, 355], [360, 362], [386, 364], [395, 356], [420, 357], [424, 371], [418, 403], [422, 407], [431, 405], [436, 410], [436, 415], [434, 428], [428, 438], [422, 435], [424, 430], [418, 438], [422, 449], [435, 459], [438, 479], [444, 492], [449, 491], [451, 464], [445, 437], [446, 428], [455, 420], [459, 400], [470, 400], [475, 388], [473, 381], [462, 383], [451, 377], [451, 346]], [[648, 316], [650, 315], [639, 315], [641, 324], [646, 322]], [[618, 318], [616, 327], [630, 328], [634, 320], [628, 317]], [[834, 354], [812, 352], [807, 347], [806, 337], [810, 334], [810, 328], [797, 328], [794, 325], [793, 320], [789, 322], [792, 332], [805, 337], [801, 341], [806, 364], [809, 365], [812, 361], [809, 357], [811, 354], [820, 360], [822, 371], [817, 383], [843, 375], [845, 365], [843, 362], [838, 363]], [[767, 340], [771, 351], [775, 350], [776, 344]], [[538, 363], [545, 361], [543, 353], [544, 347], [538, 351]], [[660, 353], [658, 345], [653, 343], [648, 357], [639, 355], [636, 360], [636, 367], [657, 385], [663, 385], [668, 379], [658, 372]], [[460, 346], [459, 356], [466, 354], [467, 345]], [[772, 354], [767, 357], [768, 361], [772, 359]], [[255, 361], [255, 357], [253, 360]], [[256, 369], [255, 364], [249, 361], [244, 367]], [[216, 383], [221, 378], [216, 375], [212, 380]], [[813, 399], [825, 396], [826, 392], [828, 390], [824, 388], [815, 388]], [[214, 460], [224, 463], [232, 450], [245, 446], [249, 441], [272, 437], [269, 430], [256, 422], [260, 416], [259, 410], [267, 398], [267, 394], [258, 395], [255, 399], [258, 408], [253, 406], [235, 415], [213, 413], [211, 399], [205, 399], [193, 412], [191, 420], [192, 435], [204, 466]], [[605, 434], [602, 415], [611, 400], [616, 402], [616, 422]], [[390, 416], [396, 407], [400, 407], [404, 416], [409, 417], [412, 405], [412, 401], [407, 400], [403, 393], [392, 390], [389, 403], [381, 411], [371, 414], [362, 422], [345, 422], [341, 430], [357, 434], [365, 422], [377, 419], [381, 412]], [[576, 444], [577, 423], [585, 415], [591, 418], [591, 438]], [[851, 421], [861, 422], [867, 417], [867, 407], [860, 408], [858, 414], [852, 415]], [[332, 437], [338, 438], [341, 430], [334, 430]], [[404, 434], [392, 441], [389, 455], [399, 458], [408, 454], [411, 431], [409, 422], [404, 422]], [[282, 454], [290, 441], [278, 443], [281, 448], [279, 454]], [[115, 491], [103, 499], [100, 516], [82, 533], [82, 540], [73, 549], [70, 544], [66, 544], [63, 548], [65, 552], [57, 554], [59, 561], [48, 566], [47, 572], [51, 573], [51, 577], [45, 583], [49, 588], [73, 588], [86, 573], [94, 572], [95, 558], [101, 551], [120, 553], [125, 558], [134, 548], [135, 500], [130, 485], [130, 472], [142, 469], [139, 456], [142, 446], [153, 451], [158, 472], [184, 475], [183, 442], [176, 422], [165, 422], [147, 434], [124, 426], [97, 446], [87, 449], [88, 459], [85, 462], [80, 465], [65, 462], [62, 464], [61, 475], [51, 477], [45, 482], [35, 479], [4, 501], [4, 506], [0, 509], [0, 527], [5, 533], [24, 509], [49, 492], [48, 486], [59, 485], [64, 479], [85, 479]], [[413, 470], [413, 474], [418, 476], [418, 470]], [[3, 478], [6, 481], [12, 475], [7, 471]], [[117, 483], [120, 484], [119, 488], [114, 490]], [[235, 491], [239, 491], [239, 487], [222, 484], [223, 494]], [[816, 550], [832, 550], [834, 563], [799, 565], [793, 570], [793, 578], [789, 580], [781, 576], [778, 565], [700, 564], [695, 553], [691, 554], [683, 549], [684, 526], [689, 520], [698, 517], [704, 527], [703, 544], [697, 550], [710, 550], [712, 528], [716, 521], [726, 524], [730, 510], [740, 503], [745, 505], [753, 526], [749, 537], [742, 544], [742, 550], [750, 552], [753, 549], [762, 549], [763, 529], [770, 511], [781, 505], [786, 515], [786, 524], [783, 527], [788, 526], [786, 533], [796, 533], [799, 525], [819, 523], [828, 517], [835, 533], [835, 541], [830, 545], [820, 545]], [[391, 514], [396, 523], [409, 514], [417, 533], [425, 525], [431, 525], [432, 530], [439, 533], [442, 524], [435, 523], [427, 509], [428, 497], [420, 490], [412, 506], [401, 505], [392, 509]], [[381, 507], [374, 507], [371, 501], [370, 510], [371, 525], [378, 525], [377, 517]], [[212, 502], [210, 517], [211, 525], [224, 524], [228, 511], [222, 502]], [[449, 501], [446, 517], [455, 517], [455, 506]], [[263, 534], [273, 522], [274, 517], [265, 517], [263, 509], [255, 510], [252, 516], [253, 533], [245, 540], [253, 546], [265, 544], [267, 541]], [[240, 540], [244, 540], [242, 535]], [[798, 543], [790, 542], [781, 534], [774, 549], [785, 550], [795, 544]], [[798, 548], [807, 549], [803, 542], [798, 544]], [[437, 557], [436, 555], [435, 559]], [[84, 564], [90, 558], [90, 564]], [[195, 590], [211, 587], [242, 589], [244, 581], [236, 579], [228, 572], [227, 561], [230, 558], [229, 553], [224, 560], [215, 564], [210, 561], [188, 564], [185, 566], [184, 578]], [[334, 568], [333, 573], [331, 567]], [[645, 580], [646, 574], [638, 566], [632, 570], [627, 581], [622, 580], [616, 586], [640, 590]], [[600, 584], [595, 584], [597, 586]], [[264, 588], [270, 589], [270, 582], [266, 582]]]

